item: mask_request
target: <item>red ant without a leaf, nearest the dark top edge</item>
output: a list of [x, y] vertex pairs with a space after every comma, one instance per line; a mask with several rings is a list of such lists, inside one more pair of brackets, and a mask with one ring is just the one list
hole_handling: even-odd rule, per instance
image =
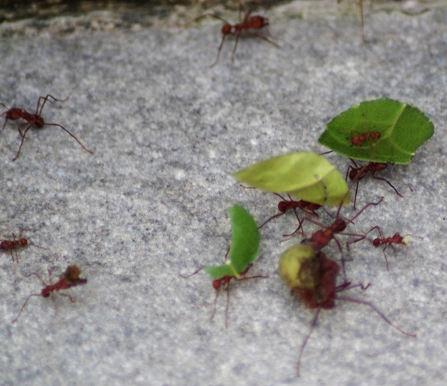
[[214, 67], [217, 62], [219, 62], [219, 56], [221, 55], [221, 49], [223, 46], [223, 41], [225, 41], [226, 36], [228, 35], [234, 35], [236, 37], [235, 39], [235, 48], [233, 49], [233, 53], [231, 54], [231, 62], [234, 62], [235, 52], [237, 48], [237, 41], [239, 40], [240, 34], [242, 34], [242, 31], [245, 31], [248, 36], [254, 36], [256, 38], [263, 39], [264, 41], [267, 41], [268, 43], [274, 45], [276, 48], [281, 48], [277, 43], [274, 43], [273, 41], [270, 41], [268, 38], [265, 38], [265, 36], [256, 34], [254, 32], [250, 32], [249, 29], [262, 29], [265, 28], [268, 32], [268, 35], [270, 35], [270, 32], [267, 29], [268, 18], [261, 16], [261, 15], [253, 15], [251, 16], [251, 10], [247, 10], [246, 13], [244, 13], [244, 20], [242, 20], [242, 9], [244, 7], [242, 6], [242, 3], [239, 4], [239, 23], [237, 24], [231, 24], [227, 20], [223, 19], [222, 17], [215, 15], [214, 13], [205, 13], [204, 15], [201, 15], [199, 17], [196, 17], [193, 21], [200, 20], [201, 18], [205, 16], [211, 16], [215, 19], [221, 20], [224, 24], [222, 26], [221, 32], [222, 32], [222, 41], [219, 45], [219, 50], [217, 50], [217, 57], [214, 63], [210, 67]]

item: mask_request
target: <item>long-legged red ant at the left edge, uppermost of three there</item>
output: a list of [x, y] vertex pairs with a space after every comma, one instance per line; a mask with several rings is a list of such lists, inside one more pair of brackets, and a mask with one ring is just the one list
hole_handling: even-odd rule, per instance
[[[19, 153], [20, 153], [20, 149], [22, 149], [22, 145], [23, 145], [23, 141], [25, 139], [25, 135], [27, 134], [27, 131], [29, 129], [31, 129], [31, 127], [35, 127], [36, 129], [41, 129], [41, 127], [43, 126], [57, 126], [60, 127], [61, 129], [63, 129], [64, 131], [66, 131], [68, 134], [70, 134], [73, 138], [75, 138], [76, 141], [78, 141], [78, 143], [81, 145], [81, 147], [86, 151], [89, 152], [90, 154], [93, 154], [93, 152], [91, 152], [90, 150], [87, 150], [85, 148], [84, 145], [82, 145], [82, 143], [80, 143], [80, 141], [78, 140], [78, 138], [76, 138], [75, 136], [73, 136], [73, 134], [71, 134], [70, 131], [68, 131], [65, 127], [61, 126], [60, 124], [57, 123], [46, 123], [43, 120], [43, 117], [41, 117], [42, 114], [42, 109], [43, 106], [45, 106], [45, 103], [47, 102], [48, 98], [51, 98], [52, 101], [50, 101], [50, 103], [54, 103], [55, 101], [59, 101], [59, 102], [64, 102], [66, 101], [68, 98], [66, 99], [56, 99], [54, 98], [54, 96], [47, 94], [47, 96], [39, 96], [39, 99], [37, 101], [37, 106], [36, 106], [36, 112], [34, 114], [30, 114], [27, 113], [27, 111], [22, 110], [22, 108], [17, 108], [17, 107], [13, 107], [8, 109], [3, 103], [0, 103], [1, 106], [3, 106], [4, 108], [6, 108], [6, 112], [0, 114], [6, 114], [6, 119], [5, 119], [5, 123], [3, 123], [3, 127], [1, 128], [0, 132], [3, 131], [3, 129], [6, 126], [6, 122], [8, 122], [8, 120], [25, 120], [27, 121], [27, 123], [23, 124], [23, 125], [19, 125], [19, 127], [17, 127], [17, 129], [19, 130], [20, 136], [22, 136], [22, 141], [20, 142], [20, 146], [19, 146], [19, 150], [17, 151], [17, 155], [15, 155], [15, 158], [13, 159], [13, 162], [19, 157]], [[41, 106], [41, 99], [43, 99], [43, 103]], [[22, 133], [22, 130], [20, 130], [20, 126], [26, 126], [26, 129], [24, 129], [24, 132]]]

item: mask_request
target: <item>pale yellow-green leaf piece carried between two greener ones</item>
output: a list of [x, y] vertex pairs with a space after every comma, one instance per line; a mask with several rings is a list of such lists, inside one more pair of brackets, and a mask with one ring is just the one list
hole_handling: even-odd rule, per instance
[[[312, 152], [266, 159], [233, 176], [258, 189], [286, 192], [319, 205], [339, 206], [348, 192], [348, 185], [335, 166]], [[348, 203], [349, 197], [346, 197], [344, 205]]]

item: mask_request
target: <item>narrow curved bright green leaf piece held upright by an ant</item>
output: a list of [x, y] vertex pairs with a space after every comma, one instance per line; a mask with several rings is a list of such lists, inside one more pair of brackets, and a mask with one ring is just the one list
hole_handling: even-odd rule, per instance
[[229, 208], [228, 215], [233, 230], [226, 264], [205, 267], [205, 271], [214, 279], [223, 276], [238, 278], [239, 274], [258, 257], [261, 234], [254, 218], [240, 205]]

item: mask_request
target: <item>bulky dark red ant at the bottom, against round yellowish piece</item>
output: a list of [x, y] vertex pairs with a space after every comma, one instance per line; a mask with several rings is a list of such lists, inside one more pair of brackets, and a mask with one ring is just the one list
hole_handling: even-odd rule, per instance
[[304, 262], [300, 266], [300, 270], [298, 271], [298, 278], [306, 278], [305, 281], [311, 281], [311, 287], [295, 287], [292, 288], [292, 295], [295, 294], [302, 298], [305, 301], [305, 305], [307, 308], [318, 308], [316, 310], [316, 314], [314, 316], [314, 320], [312, 320], [312, 324], [310, 327], [309, 334], [305, 337], [300, 349], [300, 355], [298, 357], [297, 364], [297, 376], [300, 376], [300, 364], [302, 353], [305, 350], [307, 341], [312, 335], [312, 331], [316, 327], [316, 323], [318, 321], [318, 315], [320, 315], [320, 311], [322, 309], [329, 310], [335, 307], [335, 299], [343, 300], [343, 301], [351, 301], [353, 303], [364, 304], [365, 306], [369, 306], [376, 313], [378, 313], [383, 320], [385, 320], [390, 326], [394, 327], [402, 334], [406, 336], [416, 337], [416, 334], [409, 334], [400, 327], [397, 327], [393, 322], [391, 322], [381, 311], [374, 306], [373, 303], [369, 301], [362, 301], [358, 299], [352, 299], [347, 296], [337, 296], [337, 292], [343, 292], [346, 290], [351, 290], [356, 287], [361, 287], [362, 290], [366, 290], [369, 287], [369, 284], [365, 287], [362, 284], [351, 285], [350, 282], [343, 283], [342, 285], [335, 285], [335, 280], [337, 277], [337, 273], [339, 272], [339, 266], [337, 262], [328, 259], [325, 257], [323, 252], [316, 252], [316, 256], [309, 262]]

